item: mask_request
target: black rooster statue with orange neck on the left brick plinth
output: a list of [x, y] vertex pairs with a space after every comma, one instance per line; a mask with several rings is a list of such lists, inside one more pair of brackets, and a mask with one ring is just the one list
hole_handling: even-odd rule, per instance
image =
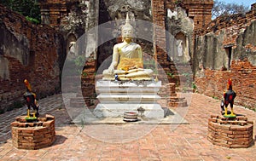
[[[26, 93], [23, 95], [24, 99], [26, 100], [26, 106], [27, 106], [27, 117], [26, 119], [28, 120], [34, 120], [37, 119], [39, 116], [38, 110], [39, 110], [39, 105], [38, 101], [36, 100], [36, 94], [32, 93], [32, 88], [30, 83], [25, 79], [24, 83], [26, 85]], [[33, 114], [32, 117], [30, 116], [30, 108], [33, 108]], [[35, 112], [36, 111], [36, 112]]]

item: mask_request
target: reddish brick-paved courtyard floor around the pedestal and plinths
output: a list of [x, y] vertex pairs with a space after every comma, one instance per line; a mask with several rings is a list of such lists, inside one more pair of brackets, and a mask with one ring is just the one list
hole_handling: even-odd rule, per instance
[[[67, 100], [64, 99], [65, 101]], [[213, 146], [207, 141], [207, 119], [211, 114], [219, 114], [219, 102], [211, 97], [193, 94], [189, 110], [184, 111], [189, 124], [156, 124], [149, 127], [151, 129], [145, 135], [136, 135], [137, 139], [132, 141], [125, 140], [125, 135], [143, 134], [143, 130], [150, 125], [144, 124], [138, 130], [132, 129], [134, 124], [128, 124], [132, 130], [122, 135], [124, 140], [112, 143], [113, 140], [109, 138], [119, 134], [113, 135], [110, 128], [106, 129], [110, 126], [76, 126], [67, 114], [62, 96], [49, 96], [39, 101], [40, 114], [49, 113], [55, 116], [55, 143], [39, 150], [20, 150], [13, 147], [9, 124], [15, 117], [25, 115], [26, 107], [5, 112], [0, 115], [0, 160], [255, 160], [254, 145], [249, 148], [229, 149]], [[256, 113], [241, 106], [234, 108], [236, 113], [244, 114], [254, 122], [255, 135]], [[121, 126], [123, 125], [116, 124], [112, 128]], [[93, 132], [96, 135], [90, 135]]]

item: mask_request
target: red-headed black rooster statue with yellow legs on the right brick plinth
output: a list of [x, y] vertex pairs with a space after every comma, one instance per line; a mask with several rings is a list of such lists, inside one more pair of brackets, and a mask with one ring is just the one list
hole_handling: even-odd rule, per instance
[[[232, 90], [232, 79], [228, 80], [227, 89], [228, 90], [226, 92], [224, 92], [224, 106], [225, 106], [224, 117], [225, 118], [236, 118], [236, 114], [234, 114], [234, 111], [233, 111], [233, 104], [234, 104], [234, 100], [236, 98], [236, 92], [234, 90]], [[230, 115], [228, 115], [229, 104], [231, 107]]]

